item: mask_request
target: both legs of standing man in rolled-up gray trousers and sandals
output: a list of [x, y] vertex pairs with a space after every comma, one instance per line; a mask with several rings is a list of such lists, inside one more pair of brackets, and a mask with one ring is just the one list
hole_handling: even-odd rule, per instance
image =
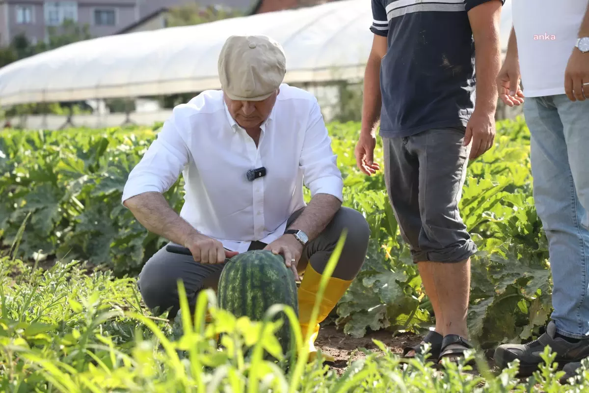
[[477, 247], [458, 210], [470, 146], [463, 146], [462, 128], [383, 140], [389, 199], [432, 300], [436, 332], [444, 337], [440, 342], [439, 336], [430, 335], [436, 344], [432, 358], [454, 359], [471, 347], [466, 327], [469, 258]]

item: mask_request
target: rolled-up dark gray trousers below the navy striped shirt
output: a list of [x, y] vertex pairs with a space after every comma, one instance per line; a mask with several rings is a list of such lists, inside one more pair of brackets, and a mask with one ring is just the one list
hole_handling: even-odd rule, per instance
[[458, 211], [469, 146], [464, 127], [383, 137], [386, 191], [413, 262], [462, 262], [477, 252]]

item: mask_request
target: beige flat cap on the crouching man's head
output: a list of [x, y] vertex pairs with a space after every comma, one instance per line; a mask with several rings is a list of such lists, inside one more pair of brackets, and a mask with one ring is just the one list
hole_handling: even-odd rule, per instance
[[286, 74], [282, 46], [264, 35], [232, 35], [219, 55], [221, 88], [231, 100], [262, 101]]

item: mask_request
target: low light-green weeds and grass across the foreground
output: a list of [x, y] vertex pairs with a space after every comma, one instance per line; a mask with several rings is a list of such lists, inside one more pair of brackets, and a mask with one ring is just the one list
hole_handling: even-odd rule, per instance
[[[380, 351], [350, 362], [346, 372], [318, 362], [263, 361], [262, 351], [280, 346], [276, 326], [236, 321], [214, 308], [213, 293], [199, 297], [196, 328], [181, 313], [168, 324], [141, 308], [133, 279], [110, 273], [87, 275], [58, 264], [42, 272], [8, 259], [0, 261], [0, 389], [3, 392], [577, 392], [560, 385], [562, 372], [542, 367], [528, 381], [511, 368], [482, 375], [448, 365], [440, 371], [415, 359], [403, 367], [380, 342]], [[203, 325], [207, 295], [213, 322]], [[183, 298], [185, 299], [185, 298]], [[186, 308], [185, 308], [186, 309]], [[294, 318], [294, 314], [292, 314]], [[298, 331], [298, 326], [295, 331]], [[214, 335], [224, 336], [218, 351]], [[300, 334], [300, 332], [299, 332]], [[260, 352], [256, 354], [255, 348]], [[244, 352], [254, 349], [252, 356]], [[301, 360], [302, 359], [302, 360]], [[548, 364], [551, 358], [546, 356]], [[431, 365], [431, 364], [430, 364]], [[584, 370], [580, 381], [586, 381]]]

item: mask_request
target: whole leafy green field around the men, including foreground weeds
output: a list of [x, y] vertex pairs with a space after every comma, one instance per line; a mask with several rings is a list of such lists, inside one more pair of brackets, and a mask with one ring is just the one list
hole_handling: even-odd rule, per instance
[[[345, 204], [365, 214], [373, 235], [365, 266], [333, 318], [355, 337], [379, 329], [419, 332], [433, 323], [431, 304], [399, 236], [383, 177], [366, 177], [355, 167], [359, 124], [329, 124], [329, 130], [345, 177]], [[509, 377], [514, 371], [480, 379], [449, 368], [436, 377], [419, 361], [403, 370], [386, 348], [356, 361], [342, 377], [317, 364], [304, 372], [293, 366], [283, 372], [283, 364], [250, 362], [237, 351], [256, 342], [273, 351], [275, 343], [267, 338], [272, 335], [258, 340], [259, 323], [236, 322], [213, 308], [215, 322], [204, 334], [190, 333], [180, 319], [168, 325], [151, 316], [141, 305], [134, 277], [165, 240], [148, 234], [120, 202], [128, 173], [156, 132], [0, 131], [0, 237], [4, 253], [11, 255], [2, 260], [0, 274], [2, 391], [289, 387], [305, 392], [458, 392], [475, 386], [483, 391], [515, 387], [517, 381]], [[375, 156], [382, 158], [380, 146]], [[178, 212], [182, 189], [178, 180], [166, 194]], [[504, 121], [495, 148], [469, 164], [461, 202], [479, 246], [472, 262], [468, 318], [472, 341], [482, 349], [530, 340], [550, 315], [547, 243], [531, 195], [527, 127], [521, 120]], [[48, 271], [33, 266], [35, 260], [51, 265], [46, 259], [63, 263]], [[67, 265], [71, 260], [82, 262]], [[80, 265], [91, 271], [82, 272]], [[232, 350], [216, 351], [211, 338], [223, 329], [233, 333], [227, 347]], [[560, 391], [551, 388], [556, 382], [550, 375], [538, 374], [515, 391], [529, 391], [534, 384]]]

